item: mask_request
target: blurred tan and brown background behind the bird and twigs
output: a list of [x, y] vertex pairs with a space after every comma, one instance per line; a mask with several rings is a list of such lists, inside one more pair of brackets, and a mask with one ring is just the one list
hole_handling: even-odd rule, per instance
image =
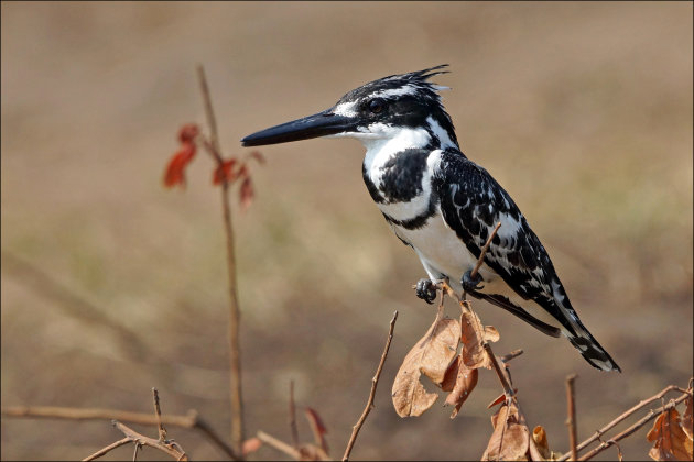
[[[229, 432], [219, 191], [198, 156], [185, 191], [162, 174], [185, 122], [204, 123], [205, 65], [224, 151], [314, 113], [366, 81], [442, 63], [464, 152], [514, 197], [574, 306], [623, 369], [592, 369], [478, 301], [512, 362], [530, 425], [578, 436], [692, 375], [692, 3], [2, 3], [2, 405], [202, 413]], [[257, 200], [235, 196], [247, 433], [290, 440], [289, 381], [341, 457], [388, 322], [390, 356], [354, 459], [478, 459], [499, 393], [480, 374], [457, 419], [400, 419], [390, 388], [434, 310], [424, 275], [362, 184], [356, 141], [261, 148]], [[52, 296], [12, 255], [96, 307]], [[40, 286], [40, 287], [37, 287]], [[40, 289], [40, 288], [43, 289]], [[451, 315], [455, 308], [448, 307]], [[134, 428], [154, 435], [152, 429]], [[308, 440], [303, 418], [300, 432]], [[643, 459], [646, 431], [622, 444]], [[173, 436], [197, 460], [219, 452]], [[104, 422], [2, 419], [1, 458], [77, 459]], [[144, 459], [155, 458], [151, 450]], [[130, 458], [120, 449], [110, 459]], [[608, 452], [604, 459], [615, 458]], [[261, 449], [253, 459], [283, 458]]]

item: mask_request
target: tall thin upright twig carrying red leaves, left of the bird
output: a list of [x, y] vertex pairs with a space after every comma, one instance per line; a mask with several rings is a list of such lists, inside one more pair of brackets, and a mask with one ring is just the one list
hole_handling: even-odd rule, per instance
[[[223, 158], [219, 148], [219, 138], [217, 135], [217, 121], [213, 111], [212, 99], [205, 69], [197, 66], [197, 74], [200, 81], [200, 90], [205, 101], [205, 112], [207, 124], [209, 125], [209, 136], [213, 146], [213, 155], [217, 165], [221, 166]], [[226, 178], [221, 182], [221, 205], [224, 212], [224, 227], [227, 237], [227, 268], [229, 276], [229, 366], [231, 374], [230, 398], [231, 398], [231, 446], [241, 454], [243, 443], [243, 402], [241, 399], [241, 348], [240, 348], [240, 308], [238, 302], [238, 290], [236, 285], [236, 255], [234, 250], [234, 228], [231, 226], [231, 208], [229, 206], [229, 183]]]

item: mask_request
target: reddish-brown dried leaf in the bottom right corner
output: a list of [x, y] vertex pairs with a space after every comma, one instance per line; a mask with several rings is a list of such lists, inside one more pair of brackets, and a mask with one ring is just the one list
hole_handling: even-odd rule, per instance
[[691, 461], [692, 440], [682, 430], [680, 413], [674, 407], [661, 413], [646, 436], [654, 442], [648, 455], [657, 461]]

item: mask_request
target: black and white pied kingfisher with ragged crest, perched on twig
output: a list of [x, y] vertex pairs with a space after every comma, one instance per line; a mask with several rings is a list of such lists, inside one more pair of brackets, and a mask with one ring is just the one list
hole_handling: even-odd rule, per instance
[[[446, 87], [429, 81], [445, 74], [446, 66], [373, 80], [325, 111], [259, 131], [241, 143], [360, 140], [371, 198], [429, 275], [418, 283], [420, 298], [433, 301], [434, 283], [447, 278], [454, 289], [499, 306], [549, 336], [563, 333], [593, 366], [620, 371], [578, 319], [547, 252], [513, 199], [460, 151], [438, 95]], [[501, 228], [471, 278], [499, 221]]]

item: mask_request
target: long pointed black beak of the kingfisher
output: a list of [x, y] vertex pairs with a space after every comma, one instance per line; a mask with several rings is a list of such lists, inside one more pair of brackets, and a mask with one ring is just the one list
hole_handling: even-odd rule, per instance
[[260, 146], [263, 144], [286, 143], [289, 141], [308, 140], [336, 133], [351, 131], [355, 119], [338, 116], [326, 109], [317, 114], [308, 116], [281, 125], [261, 130], [241, 140], [243, 146]]

